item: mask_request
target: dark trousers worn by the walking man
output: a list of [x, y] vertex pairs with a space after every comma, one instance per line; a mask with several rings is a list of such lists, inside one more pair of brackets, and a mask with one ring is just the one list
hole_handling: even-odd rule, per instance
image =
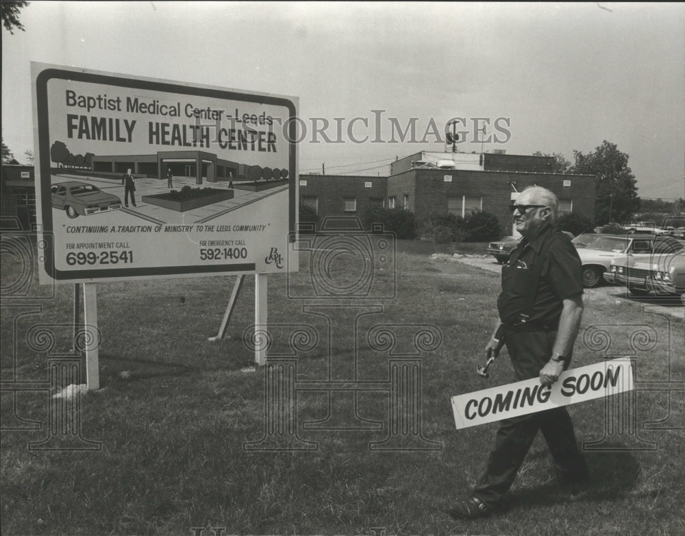
[[[556, 332], [506, 332], [505, 341], [516, 378], [538, 378], [549, 361]], [[566, 365], [568, 366], [568, 365]], [[573, 422], [564, 406], [530, 415], [504, 419], [499, 424], [495, 447], [473, 495], [486, 504], [496, 504], [514, 483], [535, 436], [541, 430], [559, 476], [569, 480], [588, 476], [578, 450]]]

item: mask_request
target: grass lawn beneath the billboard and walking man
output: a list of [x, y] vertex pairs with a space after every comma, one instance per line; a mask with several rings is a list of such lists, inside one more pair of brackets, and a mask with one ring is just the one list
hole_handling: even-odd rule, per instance
[[[438, 247], [443, 253], [484, 253], [485, 245]], [[225, 528], [223, 535], [684, 534], [682, 391], [670, 398], [667, 391], [635, 393], [638, 431], [612, 428], [600, 443], [604, 450], [586, 453], [593, 485], [582, 493], [558, 496], [540, 488], [553, 474], [538, 437], [502, 513], [451, 520], [444, 509], [475, 483], [497, 425], [455, 430], [450, 397], [506, 384], [512, 371], [503, 352], [489, 380], [475, 374], [496, 318], [497, 273], [432, 259], [434, 252], [433, 244], [398, 241], [394, 277], [377, 273], [373, 282], [385, 289], [395, 285], [395, 295], [375, 300], [293, 299], [312, 282], [307, 262], [290, 281], [269, 276], [269, 352], [286, 355], [297, 347], [298, 385], [311, 382], [310, 389], [298, 387], [288, 421], [294, 430], [267, 428], [264, 400], [277, 392], [266, 389], [262, 369], [251, 368], [253, 353], [243, 343], [253, 324], [253, 278], [246, 278], [227, 337], [216, 343], [207, 339], [219, 327], [233, 277], [98, 284], [101, 389], [82, 395], [79, 416], [82, 437], [101, 448], [29, 450], [29, 443], [49, 434], [48, 409], [55, 402], [45, 391], [13, 398], [3, 390], [2, 534], [192, 535], [199, 527]], [[358, 273], [357, 265], [346, 262], [330, 267], [340, 285], [345, 278], [354, 282]], [[3, 256], [3, 279], [16, 277], [17, 269]], [[637, 380], [668, 380], [669, 366], [671, 379], [685, 378], [682, 321], [595, 299], [593, 292], [586, 293], [575, 366], [595, 363], [604, 352], [632, 353]], [[51, 300], [27, 298], [24, 308], [3, 303], [3, 381], [45, 382], [47, 352], [29, 348], [27, 333], [37, 324], [53, 326], [53, 352], [68, 349], [64, 324], [71, 321], [72, 293], [73, 285], [62, 285]], [[379, 324], [390, 326], [397, 341], [392, 348], [390, 335], [369, 335]], [[607, 326], [609, 350], [597, 341], [601, 335], [588, 330], [598, 325]], [[309, 339], [289, 339], [298, 326], [306, 326]], [[414, 334], [421, 326], [441, 337], [438, 348], [416, 350]], [[416, 441], [400, 441], [400, 447], [419, 444], [425, 450], [376, 448], [397, 424], [383, 387], [388, 358], [421, 362], [421, 437], [405, 434], [402, 441]], [[327, 380], [340, 390], [323, 390]], [[382, 388], [360, 388], [355, 396], [344, 390], [353, 380]], [[579, 441], [603, 439], [603, 400], [569, 411]], [[419, 415], [415, 407], [400, 409], [408, 412]], [[41, 422], [42, 429], [9, 430], [17, 417]], [[660, 419], [656, 426], [662, 429], [643, 429]], [[268, 434], [297, 436], [313, 447], [246, 448], [263, 446], [259, 441]], [[645, 446], [650, 450], [638, 450]]]

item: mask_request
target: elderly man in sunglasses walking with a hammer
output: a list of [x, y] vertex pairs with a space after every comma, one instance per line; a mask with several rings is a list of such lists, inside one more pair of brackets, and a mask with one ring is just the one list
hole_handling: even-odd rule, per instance
[[[489, 357], [506, 344], [516, 378], [539, 377], [547, 386], [569, 367], [583, 313], [580, 258], [569, 237], [556, 230], [558, 206], [556, 195], [539, 186], [526, 188], [512, 204], [523, 239], [502, 267], [499, 322], [486, 345]], [[538, 430], [549, 446], [558, 485], [586, 482], [588, 468], [564, 406], [504, 419], [484, 473], [450, 515], [471, 519], [495, 511]]]

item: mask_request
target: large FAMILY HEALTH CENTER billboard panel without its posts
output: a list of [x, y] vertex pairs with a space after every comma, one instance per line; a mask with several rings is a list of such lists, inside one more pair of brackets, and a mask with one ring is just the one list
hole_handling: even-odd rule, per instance
[[297, 99], [39, 63], [32, 80], [41, 281], [286, 269]]

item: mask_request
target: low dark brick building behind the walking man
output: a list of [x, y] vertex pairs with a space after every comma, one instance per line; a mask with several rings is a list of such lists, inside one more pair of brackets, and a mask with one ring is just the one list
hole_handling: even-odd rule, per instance
[[484, 210], [497, 216], [505, 234], [514, 234], [508, 205], [536, 184], [559, 197], [561, 213], [594, 221], [595, 176], [553, 173], [554, 165], [554, 158], [544, 156], [422, 151], [393, 162], [389, 177], [300, 175], [300, 202], [321, 217], [362, 217], [372, 205], [406, 208], [419, 224], [432, 212], [465, 216]]

